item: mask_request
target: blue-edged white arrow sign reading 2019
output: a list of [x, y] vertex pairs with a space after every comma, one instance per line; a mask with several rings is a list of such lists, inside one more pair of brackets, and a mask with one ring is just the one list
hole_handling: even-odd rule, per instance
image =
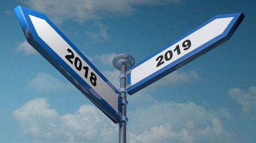
[[127, 70], [132, 95], [188, 62], [229, 40], [243, 13], [217, 15]]

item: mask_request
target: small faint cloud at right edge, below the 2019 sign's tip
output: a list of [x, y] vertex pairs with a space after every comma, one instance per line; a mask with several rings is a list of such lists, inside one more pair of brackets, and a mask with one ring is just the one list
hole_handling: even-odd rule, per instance
[[244, 116], [255, 116], [256, 110], [256, 87], [251, 87], [248, 90], [240, 88], [230, 89], [228, 94], [231, 98], [242, 105], [242, 113]]

